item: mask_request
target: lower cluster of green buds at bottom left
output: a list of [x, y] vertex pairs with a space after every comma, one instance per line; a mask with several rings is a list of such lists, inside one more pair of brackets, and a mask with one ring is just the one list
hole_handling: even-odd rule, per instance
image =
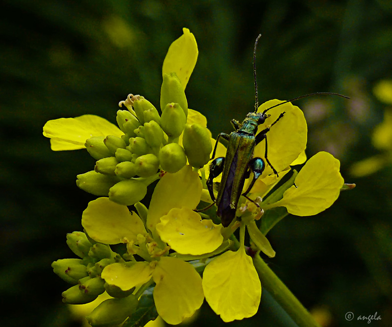
[[53, 271], [63, 280], [73, 284], [62, 293], [67, 304], [86, 304], [107, 292], [114, 299], [98, 305], [87, 317], [92, 326], [121, 324], [138, 305], [132, 295], [134, 288], [123, 291], [101, 278], [103, 268], [115, 262], [125, 262], [109, 245], [97, 243], [82, 232], [67, 234], [67, 244], [80, 259], [59, 259], [52, 263]]

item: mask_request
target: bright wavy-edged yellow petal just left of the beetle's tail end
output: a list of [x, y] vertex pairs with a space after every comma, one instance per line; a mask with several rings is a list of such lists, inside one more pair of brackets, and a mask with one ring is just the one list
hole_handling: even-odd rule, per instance
[[189, 208], [173, 208], [161, 218], [156, 230], [161, 239], [181, 254], [202, 255], [216, 250], [223, 241], [222, 225], [204, 219]]

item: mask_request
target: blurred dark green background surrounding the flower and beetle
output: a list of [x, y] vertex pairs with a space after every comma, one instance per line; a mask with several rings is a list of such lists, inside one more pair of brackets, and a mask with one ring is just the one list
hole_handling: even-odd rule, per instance
[[[187, 86], [189, 106], [216, 136], [230, 132], [254, 105], [252, 49], [260, 101], [319, 91], [296, 104], [309, 124], [307, 154], [327, 150], [346, 182], [335, 205], [316, 217], [289, 216], [269, 234], [270, 267], [327, 326], [365, 326], [375, 312], [392, 321], [391, 166], [353, 178], [350, 165], [374, 155], [370, 135], [386, 105], [371, 93], [392, 77], [392, 2], [348, 1], [67, 1], [5, 0], [1, 24], [0, 326], [80, 326], [61, 292], [68, 285], [50, 263], [74, 257], [66, 233], [81, 230], [81, 212], [95, 197], [75, 185], [89, 171], [86, 151], [52, 152], [42, 126], [49, 119], [96, 114], [115, 122], [128, 93], [159, 104], [161, 65], [188, 27], [199, 57]], [[263, 293], [260, 313], [232, 326], [294, 326]], [[346, 312], [354, 313], [346, 321]], [[195, 326], [220, 324], [207, 305]]]

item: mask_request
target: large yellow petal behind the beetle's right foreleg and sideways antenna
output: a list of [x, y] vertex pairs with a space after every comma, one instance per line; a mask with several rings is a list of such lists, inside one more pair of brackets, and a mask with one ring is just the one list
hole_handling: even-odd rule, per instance
[[[258, 112], [281, 102], [283, 101], [276, 99], [267, 101], [259, 107]], [[299, 154], [305, 150], [307, 142], [307, 125], [303, 112], [291, 103], [285, 103], [269, 110], [267, 114], [270, 117], [259, 126], [258, 132], [272, 124], [282, 112], [285, 112], [285, 115], [267, 133], [268, 159], [278, 172], [298, 158]], [[263, 140], [256, 146], [253, 157], [264, 159], [265, 148], [266, 141]], [[267, 166], [262, 177], [270, 173], [272, 169]]]

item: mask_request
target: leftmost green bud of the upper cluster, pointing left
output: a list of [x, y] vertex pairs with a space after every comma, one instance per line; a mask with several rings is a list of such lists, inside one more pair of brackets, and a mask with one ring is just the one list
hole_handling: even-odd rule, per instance
[[118, 182], [117, 178], [97, 173], [94, 170], [77, 175], [76, 178], [77, 187], [97, 196], [107, 196], [110, 187]]

